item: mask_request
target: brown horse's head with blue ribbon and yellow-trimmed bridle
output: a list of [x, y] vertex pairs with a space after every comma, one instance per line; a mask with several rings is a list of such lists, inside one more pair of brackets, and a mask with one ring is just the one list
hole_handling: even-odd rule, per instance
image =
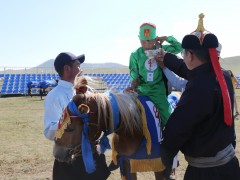
[[85, 94], [73, 97], [63, 112], [55, 134], [53, 154], [57, 160], [70, 163], [82, 155], [84, 124], [86, 138], [90, 142], [91, 150], [95, 151], [95, 141], [101, 134], [97, 116], [98, 111], [93, 98], [87, 98]]

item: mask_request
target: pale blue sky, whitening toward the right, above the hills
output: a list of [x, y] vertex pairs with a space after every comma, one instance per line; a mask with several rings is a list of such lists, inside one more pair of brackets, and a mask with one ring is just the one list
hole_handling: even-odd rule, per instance
[[84, 53], [87, 63], [128, 65], [142, 23], [182, 41], [200, 13], [221, 56], [239, 56], [239, 0], [0, 0], [0, 67], [37, 66], [64, 51]]

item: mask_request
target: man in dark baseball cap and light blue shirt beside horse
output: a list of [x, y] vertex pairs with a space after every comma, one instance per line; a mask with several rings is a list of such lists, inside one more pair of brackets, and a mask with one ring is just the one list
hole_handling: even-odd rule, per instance
[[[44, 104], [44, 135], [54, 141], [58, 122], [69, 101], [75, 95], [73, 85], [75, 77], [81, 74], [80, 64], [85, 60], [85, 55], [75, 56], [69, 52], [60, 53], [54, 67], [60, 76], [58, 85], [51, 90], [45, 98]], [[107, 179], [110, 171], [107, 168], [105, 155], [95, 155], [96, 171], [88, 174], [85, 171], [82, 156], [73, 163], [59, 162], [55, 159], [53, 166], [53, 180], [77, 179]]]

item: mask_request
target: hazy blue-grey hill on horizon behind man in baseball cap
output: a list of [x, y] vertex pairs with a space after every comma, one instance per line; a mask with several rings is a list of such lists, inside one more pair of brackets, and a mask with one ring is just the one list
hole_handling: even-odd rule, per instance
[[[37, 68], [52, 68], [54, 67], [54, 59], [50, 59], [45, 61], [44, 63], [37, 66]], [[118, 63], [83, 63], [81, 64], [81, 68], [83, 69], [95, 69], [95, 68], [127, 68], [122, 64]]]

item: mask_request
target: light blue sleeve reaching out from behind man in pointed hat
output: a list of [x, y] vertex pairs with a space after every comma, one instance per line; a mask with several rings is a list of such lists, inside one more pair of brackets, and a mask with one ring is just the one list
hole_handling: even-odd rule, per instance
[[179, 77], [174, 72], [170, 71], [168, 68], [163, 68], [163, 73], [167, 77], [168, 81], [172, 85], [172, 87], [180, 92], [183, 92], [185, 90], [187, 80], [184, 78]]

